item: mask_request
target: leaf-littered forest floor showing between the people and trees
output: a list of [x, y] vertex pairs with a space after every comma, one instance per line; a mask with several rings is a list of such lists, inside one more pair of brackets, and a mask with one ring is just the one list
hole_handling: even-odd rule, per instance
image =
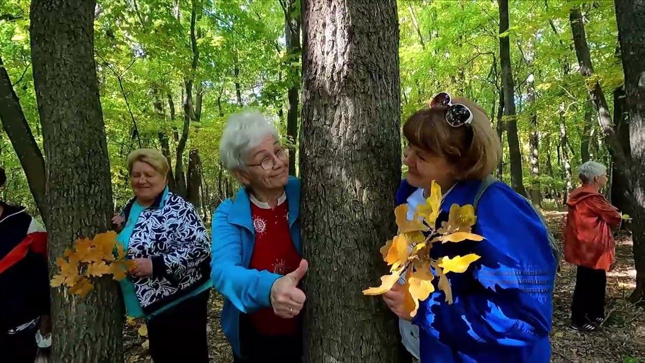
[[[544, 216], [555, 238], [562, 240], [566, 214], [545, 211]], [[575, 266], [562, 261], [553, 295], [553, 331], [551, 362], [556, 363], [640, 363], [645, 362], [645, 308], [630, 304], [626, 298], [635, 287], [631, 238], [621, 234], [616, 239], [614, 269], [607, 276], [606, 314], [602, 331], [579, 333], [571, 330], [570, 304], [575, 285]], [[210, 299], [208, 342], [211, 362], [233, 362], [231, 349], [222, 333], [219, 314], [221, 296]], [[124, 349], [126, 363], [152, 362], [146, 351], [146, 337], [139, 335], [139, 324], [126, 324]]]

